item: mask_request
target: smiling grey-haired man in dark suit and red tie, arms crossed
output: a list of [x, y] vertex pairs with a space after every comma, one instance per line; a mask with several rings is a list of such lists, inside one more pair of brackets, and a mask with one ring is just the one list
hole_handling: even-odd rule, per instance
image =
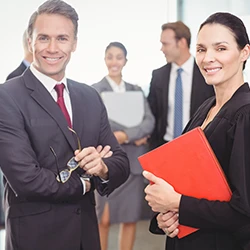
[[33, 63], [0, 86], [6, 250], [100, 250], [93, 191], [109, 195], [129, 176], [99, 94], [65, 76], [77, 24], [70, 5], [43, 3], [28, 26]]

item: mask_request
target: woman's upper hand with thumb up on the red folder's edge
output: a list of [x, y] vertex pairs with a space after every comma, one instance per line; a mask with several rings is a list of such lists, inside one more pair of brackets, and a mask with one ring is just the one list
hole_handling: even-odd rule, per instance
[[181, 195], [161, 178], [150, 172], [143, 171], [143, 176], [153, 184], [145, 188], [145, 199], [154, 212], [166, 213], [168, 211], [179, 211]]

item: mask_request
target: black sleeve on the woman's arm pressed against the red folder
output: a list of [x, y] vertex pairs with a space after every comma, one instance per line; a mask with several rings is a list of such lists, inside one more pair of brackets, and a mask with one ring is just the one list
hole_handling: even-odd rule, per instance
[[180, 224], [201, 229], [223, 229], [248, 237], [250, 235], [250, 110], [239, 112], [237, 120], [227, 131], [232, 141], [228, 174], [232, 189], [229, 202], [209, 201], [182, 196], [179, 210]]

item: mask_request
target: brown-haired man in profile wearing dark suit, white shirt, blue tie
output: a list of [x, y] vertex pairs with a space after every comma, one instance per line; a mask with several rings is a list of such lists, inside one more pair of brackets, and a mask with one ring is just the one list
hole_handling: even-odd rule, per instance
[[156, 122], [149, 139], [151, 148], [174, 138], [175, 84], [179, 68], [182, 68], [182, 129], [203, 101], [214, 95], [213, 87], [205, 83], [190, 54], [190, 42], [190, 30], [183, 22], [162, 25], [161, 51], [168, 63], [153, 71], [150, 83], [148, 101]]

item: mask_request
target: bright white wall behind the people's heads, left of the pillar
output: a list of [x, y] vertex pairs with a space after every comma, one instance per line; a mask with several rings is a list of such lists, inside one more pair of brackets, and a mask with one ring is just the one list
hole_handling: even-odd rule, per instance
[[[68, 65], [67, 76], [88, 84], [99, 81], [107, 73], [103, 60], [106, 46], [120, 41], [128, 50], [124, 79], [147, 92], [152, 70], [165, 63], [159, 39], [161, 25], [168, 21], [169, 1], [66, 0], [80, 17], [78, 48]], [[0, 0], [1, 83], [20, 64], [23, 31], [30, 15], [43, 2]]]

